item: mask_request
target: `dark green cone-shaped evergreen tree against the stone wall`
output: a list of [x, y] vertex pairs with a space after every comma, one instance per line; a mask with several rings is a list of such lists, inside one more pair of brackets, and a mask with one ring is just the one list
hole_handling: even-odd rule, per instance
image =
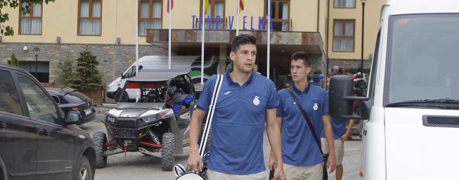
[[96, 69], [99, 62], [93, 56], [91, 51], [83, 51], [79, 53], [77, 59], [77, 77], [69, 79], [69, 86], [75, 89], [102, 89], [102, 76]]

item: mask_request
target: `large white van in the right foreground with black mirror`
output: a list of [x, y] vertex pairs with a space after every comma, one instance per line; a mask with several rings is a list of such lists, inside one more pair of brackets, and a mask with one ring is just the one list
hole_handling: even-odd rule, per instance
[[367, 97], [348, 76], [330, 82], [330, 114], [366, 120], [363, 179], [459, 179], [458, 56], [459, 1], [383, 6]]

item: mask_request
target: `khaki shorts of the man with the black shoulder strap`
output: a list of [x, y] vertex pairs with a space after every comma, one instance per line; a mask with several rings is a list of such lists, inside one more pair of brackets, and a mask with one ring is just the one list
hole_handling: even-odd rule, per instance
[[323, 163], [311, 166], [294, 166], [284, 164], [287, 180], [322, 180]]

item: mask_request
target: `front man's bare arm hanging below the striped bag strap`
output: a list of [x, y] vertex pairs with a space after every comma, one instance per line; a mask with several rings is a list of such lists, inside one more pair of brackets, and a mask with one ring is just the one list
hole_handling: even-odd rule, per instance
[[196, 108], [196, 110], [193, 112], [193, 116], [191, 117], [190, 122], [190, 152], [186, 165], [188, 168], [193, 169], [195, 172], [202, 172], [202, 158], [198, 153], [198, 139], [205, 113], [206, 112], [204, 110]]

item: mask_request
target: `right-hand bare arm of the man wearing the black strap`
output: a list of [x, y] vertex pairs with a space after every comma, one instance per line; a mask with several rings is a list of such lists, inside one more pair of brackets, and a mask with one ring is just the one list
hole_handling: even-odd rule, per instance
[[336, 169], [336, 154], [335, 154], [335, 139], [333, 138], [332, 123], [330, 122], [330, 115], [323, 115], [323, 132], [325, 133], [325, 139], [328, 143], [328, 162], [327, 167], [329, 173], [334, 172]]

